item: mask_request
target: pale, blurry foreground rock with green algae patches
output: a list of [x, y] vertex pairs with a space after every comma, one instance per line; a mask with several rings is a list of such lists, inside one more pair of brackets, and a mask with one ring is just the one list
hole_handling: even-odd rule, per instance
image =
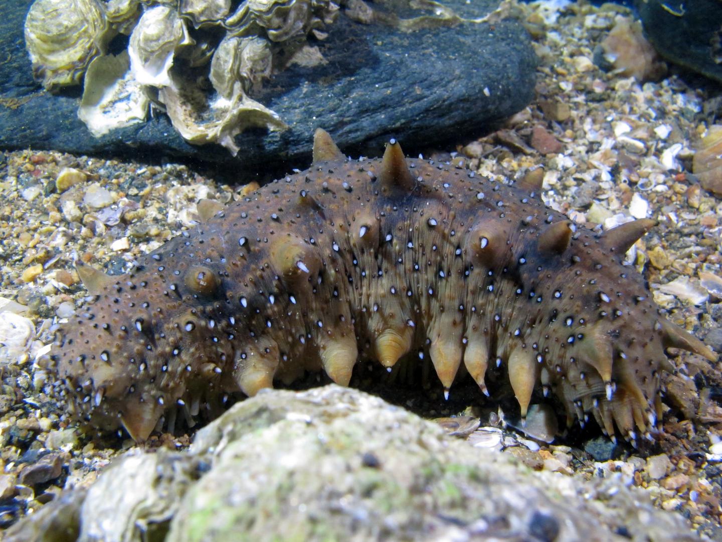
[[[46, 540], [30, 535], [54, 506], [7, 540]], [[535, 472], [335, 385], [259, 393], [187, 452], [126, 455], [70, 509], [79, 541], [695, 539], [620, 481]]]

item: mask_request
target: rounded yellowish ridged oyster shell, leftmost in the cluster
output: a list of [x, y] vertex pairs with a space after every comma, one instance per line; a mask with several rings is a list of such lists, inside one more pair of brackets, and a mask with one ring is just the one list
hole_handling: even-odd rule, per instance
[[76, 85], [115, 34], [97, 0], [37, 0], [25, 18], [32, 74], [48, 90]]

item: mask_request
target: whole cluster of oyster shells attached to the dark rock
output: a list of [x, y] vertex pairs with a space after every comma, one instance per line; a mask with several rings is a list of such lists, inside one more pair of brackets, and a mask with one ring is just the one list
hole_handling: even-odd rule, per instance
[[[95, 137], [156, 106], [188, 142], [235, 155], [244, 129], [286, 126], [250, 95], [294, 59], [323, 62], [307, 38], [323, 39], [338, 9], [330, 0], [35, 0], [25, 42], [46, 89], [84, 83], [78, 115]], [[108, 52], [124, 40], [126, 50]]]

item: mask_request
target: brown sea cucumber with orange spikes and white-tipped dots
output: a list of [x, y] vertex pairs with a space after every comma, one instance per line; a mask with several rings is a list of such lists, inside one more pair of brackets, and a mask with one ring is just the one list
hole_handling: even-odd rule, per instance
[[350, 160], [318, 129], [308, 170], [204, 202], [202, 223], [128, 274], [79, 264], [95, 301], [58, 326], [56, 395], [142, 442], [227, 393], [318, 369], [346, 385], [360, 359], [428, 356], [447, 393], [462, 363], [484, 393], [505, 371], [522, 416], [552, 391], [570, 420], [649, 436], [665, 349], [716, 356], [622, 264], [653, 220], [596, 233], [535, 184], [404, 158], [393, 139]]

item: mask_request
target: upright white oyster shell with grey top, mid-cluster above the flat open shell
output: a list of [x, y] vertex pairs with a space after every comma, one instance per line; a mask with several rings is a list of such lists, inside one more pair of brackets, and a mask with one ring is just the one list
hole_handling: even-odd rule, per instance
[[186, 23], [175, 9], [156, 6], [148, 9], [131, 34], [128, 53], [134, 77], [142, 85], [170, 85], [168, 70], [180, 46], [193, 43]]

